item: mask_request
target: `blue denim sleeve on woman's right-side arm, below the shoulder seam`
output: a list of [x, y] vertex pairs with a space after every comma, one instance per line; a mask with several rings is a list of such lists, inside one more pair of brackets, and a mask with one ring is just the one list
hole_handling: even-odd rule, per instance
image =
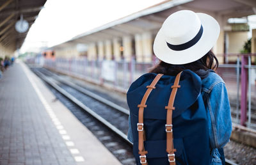
[[230, 104], [225, 83], [216, 84], [211, 93], [207, 95], [207, 107], [209, 110], [210, 144], [211, 148], [222, 148], [230, 138], [232, 121]]

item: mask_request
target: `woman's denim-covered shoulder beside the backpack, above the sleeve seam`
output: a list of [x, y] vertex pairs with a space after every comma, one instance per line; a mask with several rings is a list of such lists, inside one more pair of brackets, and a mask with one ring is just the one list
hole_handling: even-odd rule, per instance
[[209, 75], [202, 80], [202, 88], [211, 91], [212, 88], [219, 83], [225, 84], [220, 75], [216, 74], [215, 72], [210, 72]]

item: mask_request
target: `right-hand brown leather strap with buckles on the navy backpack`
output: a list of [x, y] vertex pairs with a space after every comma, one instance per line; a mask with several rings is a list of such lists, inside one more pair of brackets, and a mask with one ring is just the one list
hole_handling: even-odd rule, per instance
[[173, 148], [173, 132], [172, 132], [172, 111], [175, 109], [173, 107], [174, 99], [177, 93], [178, 88], [180, 88], [179, 81], [180, 81], [180, 72], [177, 74], [175, 81], [172, 86], [172, 93], [169, 98], [168, 106], [165, 107], [167, 109], [167, 115], [166, 115], [166, 152], [168, 153], [168, 161], [170, 162], [170, 165], [175, 165], [175, 154], [176, 149]]

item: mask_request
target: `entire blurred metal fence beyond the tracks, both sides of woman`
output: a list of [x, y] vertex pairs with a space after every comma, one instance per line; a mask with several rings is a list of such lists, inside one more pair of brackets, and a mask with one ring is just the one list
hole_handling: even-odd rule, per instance
[[[226, 54], [226, 57], [237, 58], [236, 63], [219, 65], [216, 71], [226, 83], [233, 122], [253, 129], [256, 129], [256, 66], [252, 65], [255, 55]], [[156, 63], [157, 59], [153, 63], [137, 63], [134, 59], [127, 62], [56, 58], [55, 61], [45, 59], [44, 67], [125, 92], [134, 80], [147, 73]]]

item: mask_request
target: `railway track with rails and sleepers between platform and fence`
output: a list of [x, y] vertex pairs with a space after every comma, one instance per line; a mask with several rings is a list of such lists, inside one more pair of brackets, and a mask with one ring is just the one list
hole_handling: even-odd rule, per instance
[[[70, 111], [95, 134], [122, 164], [136, 164], [132, 155], [132, 143], [127, 139], [126, 135], [128, 129], [128, 109], [118, 106], [99, 95], [95, 95], [95, 93], [67, 81], [49, 70], [40, 68], [32, 68], [32, 70], [51, 86], [52, 91], [57, 97], [62, 97], [61, 99], [66, 104], [65, 106], [69, 106], [68, 109], [73, 110]], [[95, 100], [97, 104], [95, 104]], [[75, 106], [67, 102], [72, 102]], [[77, 107], [81, 109], [80, 112], [77, 112]], [[86, 113], [84, 114], [84, 112]], [[104, 125], [105, 128], [100, 128], [97, 125]], [[116, 136], [118, 139], [116, 139]], [[226, 164], [235, 163], [226, 159]]]

